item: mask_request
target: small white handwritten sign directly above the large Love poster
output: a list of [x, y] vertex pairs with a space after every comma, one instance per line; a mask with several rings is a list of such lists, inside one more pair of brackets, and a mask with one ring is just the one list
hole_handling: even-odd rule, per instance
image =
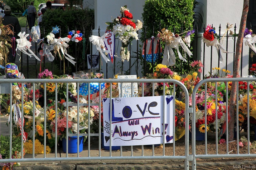
[[[136, 75], [125, 75], [125, 76], [117, 76], [117, 79], [137, 79]], [[134, 82], [132, 84], [133, 88], [133, 96], [131, 96], [131, 83], [123, 82], [122, 87], [121, 83], [118, 83], [119, 97], [137, 97], [138, 96], [138, 84]], [[122, 89], [122, 96], [121, 96]]]

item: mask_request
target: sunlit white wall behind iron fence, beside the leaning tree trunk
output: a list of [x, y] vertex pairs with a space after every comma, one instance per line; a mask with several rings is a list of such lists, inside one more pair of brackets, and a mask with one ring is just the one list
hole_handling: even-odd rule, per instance
[[[216, 33], [219, 34], [219, 24], [221, 24], [221, 35], [223, 35], [226, 31], [227, 23], [230, 25], [233, 24], [232, 30], [234, 32], [234, 27], [236, 24], [236, 34], [239, 32], [240, 28], [240, 20], [242, 16], [242, 9], [243, 9], [243, 1], [242, 0], [198, 0], [202, 3], [200, 7], [203, 10], [203, 23], [205, 27], [208, 24], [213, 24], [213, 27], [216, 29]], [[200, 35], [202, 36], [203, 33], [203, 26], [199, 31]], [[199, 39], [201, 40], [201, 39]], [[228, 39], [228, 52], [233, 52], [234, 44], [233, 40], [230, 37]], [[222, 47], [226, 49], [227, 40], [226, 38], [223, 41]], [[202, 41], [198, 41], [198, 60], [203, 62], [203, 46], [204, 43]], [[211, 47], [205, 46], [206, 56], [205, 56], [205, 74], [209, 75], [210, 65], [211, 65]], [[215, 47], [213, 47], [213, 63], [212, 67], [218, 66], [218, 53]], [[233, 72], [233, 53], [228, 54], [228, 67], [227, 69]], [[242, 68], [242, 75], [248, 75], [248, 57], [249, 57], [249, 48], [248, 46], [243, 45], [243, 65]], [[226, 69], [226, 54], [222, 53], [224, 58], [224, 63], [220, 65], [221, 69]]]

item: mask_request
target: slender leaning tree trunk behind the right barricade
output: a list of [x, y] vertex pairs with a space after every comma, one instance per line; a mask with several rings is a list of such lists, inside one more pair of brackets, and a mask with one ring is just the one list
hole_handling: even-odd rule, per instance
[[[243, 34], [245, 32], [246, 18], [249, 9], [249, 0], [243, 0], [243, 12], [240, 22], [240, 28], [236, 43], [236, 55], [235, 55], [235, 64], [233, 70], [233, 77], [238, 77], [240, 64], [241, 64], [241, 53], [242, 53], [242, 44], [243, 44]], [[235, 120], [235, 105], [236, 105], [236, 83], [232, 83], [231, 93], [230, 93], [230, 102], [229, 102], [229, 112], [230, 112], [230, 122], [228, 124], [228, 141], [232, 141], [234, 138], [234, 120]]]

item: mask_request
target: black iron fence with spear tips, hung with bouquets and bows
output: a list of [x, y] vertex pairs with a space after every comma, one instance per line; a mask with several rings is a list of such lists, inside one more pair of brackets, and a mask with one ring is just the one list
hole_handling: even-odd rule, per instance
[[[228, 28], [229, 25], [225, 26], [225, 29]], [[213, 25], [212, 25], [213, 27]], [[205, 29], [205, 27], [204, 27]], [[224, 29], [224, 30], [225, 30]], [[226, 40], [226, 47], [223, 47], [226, 51], [230, 51], [230, 52], [234, 52], [233, 55], [233, 61], [235, 60], [235, 49], [236, 49], [236, 40], [237, 40], [237, 33], [236, 33], [236, 25], [234, 26], [234, 31], [233, 34], [230, 34], [230, 30], [227, 30], [225, 35], [221, 35], [221, 25], [219, 25], [219, 38], [222, 38], [224, 36], [224, 39]], [[26, 32], [28, 32], [28, 30], [26, 29]], [[72, 74], [72, 72], [76, 72], [76, 71], [81, 71], [81, 70], [87, 70], [87, 54], [90, 55], [94, 55], [95, 53], [93, 53], [93, 45], [91, 44], [91, 42], [89, 41], [88, 37], [84, 36], [84, 30], [81, 31], [83, 33], [83, 40], [82, 43], [79, 44], [80, 46], [82, 45], [82, 48], [78, 48], [78, 43], [75, 43], [74, 46], [72, 46], [72, 48], [74, 48], [73, 50], [75, 51], [74, 53], [74, 58], [76, 59], [76, 65], [74, 67], [71, 67], [71, 64], [69, 62], [64, 63], [62, 60], [59, 61], [54, 61], [52, 63], [49, 64], [49, 62], [45, 61], [45, 56], [40, 56], [37, 49], [38, 49], [38, 43], [34, 42], [32, 43], [32, 45], [34, 46], [34, 53], [42, 59], [42, 61], [40, 62], [40, 65], [38, 63], [38, 61], [36, 59], [30, 59], [29, 56], [25, 56], [24, 54], [21, 54], [21, 60], [20, 60], [20, 71], [21, 72], [26, 72], [26, 78], [34, 78], [38, 76], [39, 70], [43, 71], [44, 69], [49, 69], [52, 70], [53, 74], [56, 75], [62, 75], [63, 73], [65, 74]], [[173, 30], [174, 34], [175, 34], [175, 30]], [[217, 30], [216, 30], [217, 32]], [[103, 35], [105, 32], [102, 33], [102, 31], [100, 30], [100, 28], [98, 28], [98, 36]], [[41, 30], [41, 34], [42, 36], [46, 36], [48, 33], [45, 33], [44, 28], [43, 30]], [[91, 35], [93, 34], [93, 31], [91, 30]], [[64, 35], [63, 37], [67, 36], [68, 33], [62, 33], [61, 29], [59, 32], [59, 36], [62, 37], [62, 35]], [[90, 35], [90, 36], [91, 36]], [[154, 34], [153, 34], [154, 35]], [[88, 35], [87, 35], [88, 36]], [[208, 68], [209, 73], [212, 74], [212, 67], [213, 66], [217, 66], [220, 67], [220, 59], [219, 56], [221, 54], [221, 51], [218, 51], [218, 56], [214, 56], [213, 52], [215, 52], [216, 50], [214, 49], [213, 46], [211, 47], [207, 47], [206, 44], [201, 43], [202, 39], [202, 33], [198, 32], [198, 29], [195, 28], [195, 33], [193, 36], [193, 41], [191, 43], [192, 48], [190, 49], [193, 52], [193, 56], [191, 56], [190, 59], [187, 60], [187, 62], [184, 62], [182, 60], [177, 61], [176, 63], [177, 65], [179, 65], [179, 67], [177, 66], [172, 66], [172, 69], [176, 72], [179, 72], [180, 74], [184, 74], [184, 68], [186, 67], [187, 69], [189, 69], [189, 65], [191, 63], [191, 61], [193, 60], [202, 60], [204, 68], [203, 68], [203, 77], [207, 74], [206, 72], [206, 68]], [[115, 59], [114, 57], [114, 61], [113, 61], [113, 74], [117, 74], [120, 72], [121, 70], [121, 74], [131, 74], [132, 70], [136, 70], [136, 74], [137, 76], [140, 75], [140, 70], [138, 69], [139, 67], [141, 67], [141, 70], [144, 70], [143, 75], [146, 74], [146, 72], [148, 72], [148, 70], [146, 69], [147, 63], [148, 61], [146, 61], [146, 57], [144, 57], [144, 59], [141, 57], [142, 54], [142, 49], [143, 49], [143, 42], [145, 42], [147, 39], [146, 34], [145, 35], [140, 35], [139, 40], [133, 41], [132, 45], [129, 46], [129, 49], [131, 51], [130, 53], [130, 58], [133, 59], [130, 61], [125, 61], [125, 62], [119, 62], [118, 60]], [[159, 40], [160, 41], [160, 40]], [[161, 44], [161, 43], [159, 43]], [[230, 44], [233, 44], [233, 48], [229, 48]], [[118, 55], [118, 49], [119, 49], [119, 45], [121, 46], [121, 42], [119, 43], [119, 39], [116, 38], [116, 45], [115, 45], [115, 52], [114, 54]], [[146, 43], [144, 44], [144, 49], [146, 49]], [[154, 43], [152, 43], [151, 45], [154, 45]], [[132, 49], [135, 47], [135, 50]], [[163, 54], [160, 52], [160, 48], [161, 46], [158, 46], [159, 48], [159, 54], [158, 56], [162, 56]], [[82, 50], [85, 54], [81, 54]], [[154, 49], [154, 48], [152, 48]], [[70, 50], [70, 49], [68, 49]], [[80, 50], [80, 51], [79, 51]], [[97, 54], [98, 52], [96, 52]], [[184, 50], [182, 48], [180, 48], [180, 53], [184, 54]], [[251, 51], [250, 51], [251, 53]], [[98, 53], [98, 55], [100, 56], [100, 53]], [[231, 70], [230, 66], [228, 68], [228, 54], [222, 54], [223, 56], [226, 55], [226, 58], [224, 58], [224, 63], [226, 64], [225, 66], [223, 66], [222, 64], [222, 68], [226, 69], [226, 70]], [[86, 56], [86, 57], [84, 57]], [[250, 56], [250, 55], [249, 55]], [[26, 63], [23, 62], [24, 57], [26, 57]], [[208, 58], [210, 57], [210, 64], [209, 62], [206, 62], [207, 60], [209, 60]], [[218, 62], [217, 62], [217, 58], [218, 58]], [[35, 62], [33, 64], [31, 64], [29, 61], [34, 60]], [[101, 60], [101, 57], [99, 57], [99, 60]], [[117, 69], [117, 62], [119, 62], [119, 67]], [[248, 61], [243, 61], [243, 58], [241, 58], [241, 65], [243, 65], [243, 62], [248, 62]], [[108, 68], [109, 65], [108, 63], [102, 63], [101, 61], [99, 61], [99, 69], [97, 71], [102, 71], [106, 74], [106, 78], [111, 78], [108, 76]], [[151, 65], [156, 65], [161, 63], [161, 57], [158, 57], [158, 60], [156, 60], [156, 62], [154, 63], [153, 61], [153, 55], [152, 55], [152, 61], [151, 61]], [[106, 64], [106, 65], [105, 65]], [[209, 65], [208, 65], [209, 64]], [[26, 70], [24, 69], [26, 65]], [[34, 66], [33, 66], [34, 65]], [[65, 67], [63, 67], [63, 65], [65, 65]], [[250, 63], [248, 64], [248, 66], [250, 65]], [[125, 68], [126, 66], [126, 68]], [[30, 67], [34, 67], [33, 72], [31, 72]], [[210, 68], [210, 69], [209, 69]], [[249, 68], [249, 67], [248, 67]], [[104, 69], [104, 70], [103, 70]], [[150, 71], [154, 71], [153, 69], [149, 69]], [[188, 70], [189, 71], [189, 70]], [[243, 70], [241, 67], [241, 76], [243, 75]]]

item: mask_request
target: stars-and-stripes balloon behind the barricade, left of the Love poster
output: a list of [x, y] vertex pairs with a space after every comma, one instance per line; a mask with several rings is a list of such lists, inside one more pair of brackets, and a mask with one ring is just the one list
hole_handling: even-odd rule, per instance
[[[94, 99], [100, 95], [99, 89], [101, 89], [101, 95], [103, 94], [105, 90], [105, 83], [101, 83], [101, 87], [99, 87], [99, 85], [100, 83], [98, 82], [90, 83], [90, 99]], [[81, 86], [79, 86], [79, 95], [88, 100], [88, 83], [84, 82]]]

